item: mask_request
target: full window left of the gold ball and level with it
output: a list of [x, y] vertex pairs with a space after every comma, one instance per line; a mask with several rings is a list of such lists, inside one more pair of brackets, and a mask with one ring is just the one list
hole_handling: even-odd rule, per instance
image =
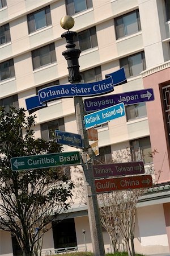
[[[38, 13], [41, 13], [41, 11], [44, 11], [43, 19], [45, 19], [45, 26], [36, 28], [36, 17], [35, 15]], [[52, 17], [50, 13], [50, 6], [46, 6], [44, 8], [41, 8], [40, 10], [34, 11], [33, 13], [30, 13], [27, 15], [27, 24], [28, 24], [28, 33], [31, 34], [33, 32], [39, 31], [42, 28], [48, 27], [52, 25]]]

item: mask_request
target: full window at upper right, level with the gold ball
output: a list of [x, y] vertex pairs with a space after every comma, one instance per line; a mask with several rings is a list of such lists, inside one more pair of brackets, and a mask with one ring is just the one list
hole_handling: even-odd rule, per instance
[[[137, 27], [138, 27], [138, 30], [137, 31], [134, 31], [134, 32], [126, 32], [126, 24], [124, 22], [124, 19], [125, 17], [128, 17], [130, 16], [131, 14], [136, 14], [136, 24], [137, 24]], [[118, 24], [118, 20], [120, 20], [120, 24]], [[133, 34], [136, 34], [138, 33], [139, 31], [141, 31], [141, 20], [140, 20], [140, 16], [139, 16], [139, 10], [134, 10], [134, 11], [130, 11], [130, 13], [126, 13], [124, 15], [121, 15], [121, 16], [118, 16], [117, 18], [114, 18], [114, 27], [115, 27], [115, 33], [116, 33], [116, 39], [121, 39], [121, 38], [124, 38], [126, 36], [129, 36], [129, 35], [133, 35]], [[122, 30], [122, 36], [120, 34], [120, 29]]]

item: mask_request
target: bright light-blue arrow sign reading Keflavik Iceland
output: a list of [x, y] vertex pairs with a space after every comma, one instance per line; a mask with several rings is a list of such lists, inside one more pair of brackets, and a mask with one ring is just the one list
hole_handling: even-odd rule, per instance
[[102, 109], [94, 113], [84, 115], [84, 123], [87, 128], [101, 125], [102, 123], [109, 122], [118, 117], [123, 117], [125, 115], [124, 103], [120, 103], [111, 106], [107, 109]]

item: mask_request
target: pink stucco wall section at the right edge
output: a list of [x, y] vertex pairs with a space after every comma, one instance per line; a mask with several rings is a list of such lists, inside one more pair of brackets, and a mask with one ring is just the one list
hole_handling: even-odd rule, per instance
[[166, 126], [164, 123], [160, 95], [160, 84], [163, 83], [165, 83], [165, 85], [170, 85], [170, 68], [152, 73], [143, 78], [144, 88], [154, 89], [155, 100], [147, 102], [146, 106], [152, 151], [156, 149], [159, 152], [154, 155], [156, 179], [158, 179], [159, 171], [161, 171], [158, 183], [170, 181], [169, 142], [167, 134], [165, 134]]

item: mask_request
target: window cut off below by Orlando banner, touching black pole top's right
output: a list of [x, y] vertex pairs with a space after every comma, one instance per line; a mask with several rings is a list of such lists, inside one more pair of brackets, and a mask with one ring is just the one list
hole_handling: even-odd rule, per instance
[[102, 80], [100, 66], [84, 71], [80, 75], [82, 76], [82, 82], [95, 82]]

